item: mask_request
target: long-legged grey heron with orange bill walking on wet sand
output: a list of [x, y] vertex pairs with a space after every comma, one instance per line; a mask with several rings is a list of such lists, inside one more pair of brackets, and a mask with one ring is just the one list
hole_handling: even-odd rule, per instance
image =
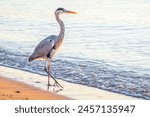
[[[44, 70], [48, 74], [48, 84], [47, 84], [47, 90], [49, 90], [50, 86], [58, 87], [60, 90], [63, 89], [63, 87], [59, 84], [59, 82], [51, 75], [50, 73], [50, 67], [51, 67], [51, 60], [58, 50], [58, 48], [62, 45], [62, 42], [64, 40], [64, 33], [65, 33], [65, 26], [62, 20], [59, 18], [60, 14], [69, 13], [69, 14], [76, 14], [74, 11], [69, 11], [64, 8], [58, 8], [55, 11], [55, 17], [57, 22], [60, 26], [60, 33], [59, 35], [50, 35], [47, 38], [43, 39], [34, 49], [34, 52], [29, 57], [29, 62], [32, 60], [38, 60], [42, 59], [45, 60], [45, 67]], [[48, 63], [47, 63], [48, 62]], [[50, 84], [50, 77], [54, 80], [54, 84]]]

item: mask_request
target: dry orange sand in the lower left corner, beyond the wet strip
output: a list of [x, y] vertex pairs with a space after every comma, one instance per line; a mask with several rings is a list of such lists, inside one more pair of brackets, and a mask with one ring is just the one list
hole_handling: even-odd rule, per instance
[[0, 77], [0, 100], [64, 100], [64, 96]]

